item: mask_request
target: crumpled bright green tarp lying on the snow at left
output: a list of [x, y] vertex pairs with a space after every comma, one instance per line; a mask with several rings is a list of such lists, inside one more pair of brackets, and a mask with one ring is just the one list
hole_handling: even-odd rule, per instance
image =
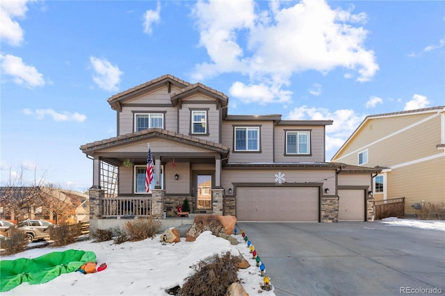
[[24, 282], [31, 285], [46, 283], [60, 274], [75, 271], [88, 261], [96, 261], [94, 252], [75, 249], [51, 252], [33, 259], [2, 260], [0, 292], [8, 291]]

